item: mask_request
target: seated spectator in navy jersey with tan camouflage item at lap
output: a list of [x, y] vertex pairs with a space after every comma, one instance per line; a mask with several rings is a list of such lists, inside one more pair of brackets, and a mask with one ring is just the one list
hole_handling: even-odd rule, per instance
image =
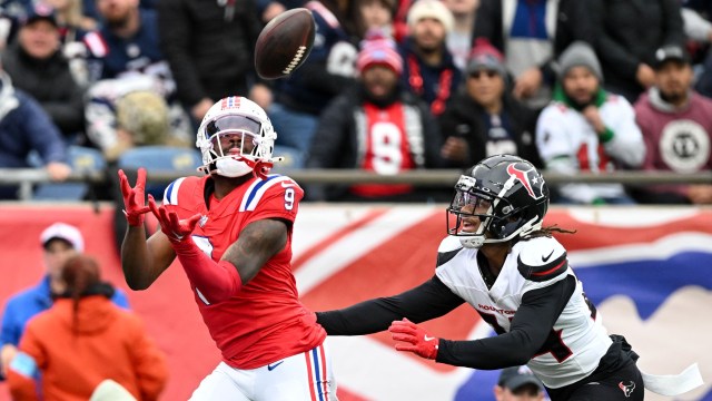
[[192, 127], [175, 98], [156, 12], [135, 0], [98, 0], [97, 9], [105, 26], [85, 37], [93, 84], [87, 105], [90, 139], [109, 162], [134, 146], [190, 146]]

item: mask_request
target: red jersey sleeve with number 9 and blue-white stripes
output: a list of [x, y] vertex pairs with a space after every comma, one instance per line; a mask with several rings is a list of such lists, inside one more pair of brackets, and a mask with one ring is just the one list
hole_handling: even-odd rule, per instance
[[264, 218], [295, 221], [304, 190], [287, 176], [274, 175], [256, 180], [243, 197], [240, 212], [250, 212], [246, 224]]

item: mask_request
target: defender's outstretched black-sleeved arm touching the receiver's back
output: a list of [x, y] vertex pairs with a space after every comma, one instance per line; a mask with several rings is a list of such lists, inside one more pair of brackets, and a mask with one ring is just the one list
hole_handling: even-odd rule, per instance
[[329, 335], [362, 335], [388, 329], [395, 320], [425, 322], [447, 314], [465, 301], [437, 277], [398, 295], [378, 297], [353, 306], [317, 312], [319, 323]]

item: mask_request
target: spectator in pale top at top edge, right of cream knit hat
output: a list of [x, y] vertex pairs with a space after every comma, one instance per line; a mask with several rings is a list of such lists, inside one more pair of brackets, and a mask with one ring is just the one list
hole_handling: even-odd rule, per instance
[[444, 0], [443, 3], [453, 13], [455, 22], [447, 36], [447, 49], [453, 53], [455, 66], [464, 71], [472, 50], [479, 0]]

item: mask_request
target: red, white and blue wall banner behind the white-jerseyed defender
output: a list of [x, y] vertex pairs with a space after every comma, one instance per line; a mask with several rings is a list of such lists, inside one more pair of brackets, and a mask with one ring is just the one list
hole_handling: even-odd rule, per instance
[[[699, 363], [705, 385], [678, 399], [711, 401], [712, 212], [554, 208], [552, 224], [576, 231], [557, 239], [609, 332], [626, 336], [647, 373]], [[443, 207], [305, 208], [294, 239], [300, 294], [318, 311], [413, 287], [434, 274], [444, 235]], [[424, 326], [451, 340], [494, 335], [468, 305]], [[494, 400], [497, 371], [396, 352], [387, 333], [329, 342], [342, 401]]]

